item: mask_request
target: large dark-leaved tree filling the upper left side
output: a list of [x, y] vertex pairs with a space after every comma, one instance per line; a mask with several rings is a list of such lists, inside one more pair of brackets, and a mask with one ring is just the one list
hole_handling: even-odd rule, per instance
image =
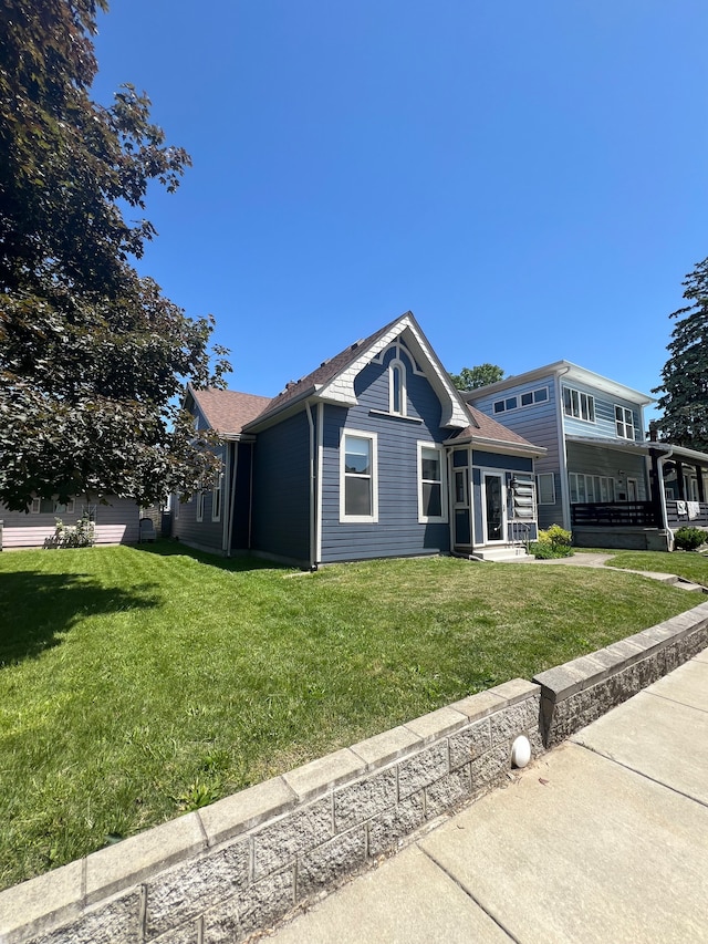
[[[0, 504], [110, 494], [140, 502], [214, 474], [180, 415], [186, 381], [220, 383], [211, 318], [138, 276], [155, 230], [148, 184], [174, 190], [187, 153], [149, 100], [90, 94], [105, 0], [0, 3]], [[216, 352], [217, 363], [210, 370]]]

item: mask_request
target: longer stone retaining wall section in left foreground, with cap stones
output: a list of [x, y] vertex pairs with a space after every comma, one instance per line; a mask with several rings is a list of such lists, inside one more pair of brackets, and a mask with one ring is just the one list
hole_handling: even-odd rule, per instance
[[275, 923], [534, 753], [520, 678], [0, 893], [0, 944], [217, 944]]

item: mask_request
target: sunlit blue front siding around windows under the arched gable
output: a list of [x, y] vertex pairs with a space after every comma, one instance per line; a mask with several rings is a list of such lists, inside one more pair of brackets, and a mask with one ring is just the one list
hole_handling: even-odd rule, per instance
[[[388, 360], [367, 365], [355, 384], [358, 404], [325, 406], [322, 456], [322, 561], [407, 557], [449, 550], [449, 525], [418, 521], [418, 442], [440, 444], [440, 403], [427, 378], [406, 365], [407, 416], [388, 411]], [[412, 422], [412, 419], [420, 422]], [[340, 521], [340, 439], [342, 429], [376, 433], [378, 443], [378, 521]], [[442, 496], [447, 507], [447, 495]]]

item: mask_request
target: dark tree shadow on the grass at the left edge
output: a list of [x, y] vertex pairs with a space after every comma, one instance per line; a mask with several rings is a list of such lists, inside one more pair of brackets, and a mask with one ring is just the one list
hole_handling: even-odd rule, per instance
[[152, 585], [126, 591], [81, 573], [0, 573], [0, 670], [59, 645], [84, 616], [156, 606]]

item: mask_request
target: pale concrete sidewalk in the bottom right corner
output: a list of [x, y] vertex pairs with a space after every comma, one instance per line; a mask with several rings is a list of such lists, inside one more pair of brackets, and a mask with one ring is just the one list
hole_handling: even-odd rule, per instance
[[708, 942], [708, 650], [267, 940]]

